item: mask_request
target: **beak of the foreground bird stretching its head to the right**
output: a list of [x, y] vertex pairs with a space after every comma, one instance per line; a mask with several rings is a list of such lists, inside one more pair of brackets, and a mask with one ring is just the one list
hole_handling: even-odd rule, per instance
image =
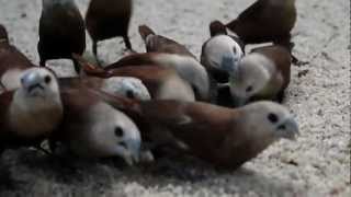
[[298, 124], [293, 117], [286, 118], [282, 124], [278, 126], [278, 129], [282, 130], [280, 132], [281, 137], [288, 140], [296, 141], [296, 137], [299, 136]]

